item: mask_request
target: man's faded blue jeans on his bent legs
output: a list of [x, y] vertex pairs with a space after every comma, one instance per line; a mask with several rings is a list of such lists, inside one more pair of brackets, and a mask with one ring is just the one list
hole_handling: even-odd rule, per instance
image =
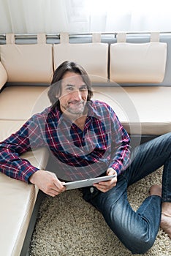
[[[83, 198], [101, 211], [107, 225], [132, 254], [153, 246], [161, 221], [161, 202], [171, 202], [171, 132], [143, 143], [132, 152], [132, 164], [118, 176], [113, 189], [103, 193], [83, 189]], [[127, 199], [127, 187], [164, 165], [162, 198], [147, 197], [135, 212]]]

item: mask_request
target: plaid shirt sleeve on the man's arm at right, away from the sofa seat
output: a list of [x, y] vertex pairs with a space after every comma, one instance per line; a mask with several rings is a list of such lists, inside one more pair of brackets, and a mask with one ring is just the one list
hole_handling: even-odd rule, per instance
[[130, 164], [130, 138], [115, 112], [110, 108], [112, 127], [112, 152], [110, 167], [120, 175]]

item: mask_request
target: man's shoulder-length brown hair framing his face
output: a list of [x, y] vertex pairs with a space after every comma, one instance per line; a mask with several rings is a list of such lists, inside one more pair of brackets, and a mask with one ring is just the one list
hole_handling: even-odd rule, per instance
[[61, 94], [61, 80], [64, 77], [66, 72], [74, 72], [75, 74], [82, 75], [82, 79], [88, 88], [88, 98], [89, 101], [93, 96], [93, 91], [91, 89], [91, 80], [88, 77], [86, 70], [81, 67], [79, 64], [76, 64], [72, 61], [64, 61], [61, 65], [58, 66], [56, 71], [53, 74], [53, 79], [51, 81], [50, 89], [47, 93], [50, 102], [52, 105], [56, 105], [58, 102], [58, 98], [56, 98], [56, 94]]

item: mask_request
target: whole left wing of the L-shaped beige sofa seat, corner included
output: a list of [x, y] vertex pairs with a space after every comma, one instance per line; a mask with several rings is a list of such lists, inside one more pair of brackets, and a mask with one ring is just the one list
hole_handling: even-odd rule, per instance
[[[47, 97], [39, 101], [45, 86], [11, 86], [0, 94], [0, 141], [16, 132], [33, 113], [49, 105]], [[35, 111], [35, 112], [34, 112]], [[44, 170], [48, 161], [45, 148], [22, 155], [32, 165]], [[18, 256], [28, 230], [38, 189], [0, 173], [0, 255]]]

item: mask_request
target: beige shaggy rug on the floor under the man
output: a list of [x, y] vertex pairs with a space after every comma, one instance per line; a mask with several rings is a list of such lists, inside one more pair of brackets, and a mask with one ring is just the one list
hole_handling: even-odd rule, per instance
[[[161, 170], [129, 187], [134, 210], [148, 196], [152, 184], [161, 183]], [[45, 197], [31, 240], [30, 256], [129, 256], [99, 211], [86, 203], [79, 190]], [[171, 255], [171, 240], [159, 230], [156, 242], [145, 256]]]

